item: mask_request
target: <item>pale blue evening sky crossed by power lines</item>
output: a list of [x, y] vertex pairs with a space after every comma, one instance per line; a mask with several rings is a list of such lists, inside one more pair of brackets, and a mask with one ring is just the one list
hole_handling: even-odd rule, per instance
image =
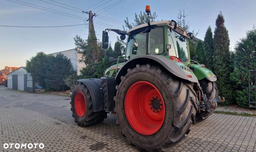
[[[65, 12], [79, 16], [78, 18], [85, 18], [85, 22], [82, 18], [77, 19], [63, 16], [11, 1], [18, 3], [31, 3], [38, 5], [34, 5], [38, 8], [45, 7]], [[129, 22], [132, 22], [134, 20], [134, 14], [138, 14], [140, 11], [145, 11], [146, 5], [150, 5], [151, 12], [156, 11], [158, 15], [156, 20], [159, 21], [172, 19], [177, 20], [178, 12], [184, 9], [185, 14], [188, 15], [185, 19], [189, 21], [190, 29], [195, 29], [196, 31], [199, 30], [197, 37], [202, 40], [204, 39], [208, 26], [211, 26], [214, 32], [215, 20], [219, 12], [222, 11], [225, 18], [225, 26], [230, 37], [230, 47], [232, 50], [234, 50], [236, 42], [239, 41], [240, 38], [246, 36], [246, 31], [251, 30], [253, 25], [256, 24], [256, 0], [54, 0], [72, 7], [61, 5], [51, 0], [43, 0], [45, 2], [40, 0], [11, 1], [0, 0], [0, 25], [63, 26], [84, 24], [87, 23], [86, 19], [88, 18], [88, 14], [82, 13], [81, 10], [92, 10], [93, 13], [95, 12], [96, 14], [101, 15], [93, 18], [96, 36], [100, 41], [102, 39], [101, 34], [103, 30], [106, 28], [123, 29], [122, 24], [124, 24], [123, 22], [126, 17], [128, 17]], [[57, 4], [73, 10], [49, 3]], [[117, 5], [114, 6], [111, 4]], [[0, 69], [4, 69], [5, 66], [25, 66], [26, 60], [35, 56], [37, 52], [50, 54], [73, 49], [75, 48], [74, 37], [76, 35], [79, 35], [83, 39], [87, 39], [87, 25], [55, 28], [19, 28], [0, 26]], [[112, 46], [117, 40], [116, 36], [118, 35], [114, 32], [109, 32], [109, 41]]]

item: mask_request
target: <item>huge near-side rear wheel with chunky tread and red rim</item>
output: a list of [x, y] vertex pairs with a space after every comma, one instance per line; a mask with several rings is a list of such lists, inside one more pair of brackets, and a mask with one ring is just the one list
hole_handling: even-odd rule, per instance
[[[134, 87], [134, 85], [138, 85], [142, 82], [145, 83], [145, 85], [150, 84], [148, 87]], [[164, 118], [159, 117], [159, 121], [161, 122], [163, 119], [163, 123], [153, 122], [154, 124], [152, 125], [160, 124], [160, 127], [158, 126], [153, 129], [148, 127], [152, 125], [149, 125], [150, 122], [147, 122], [147, 119], [150, 118], [144, 117], [145, 112], [135, 115], [139, 110], [136, 109], [136, 106], [130, 106], [127, 110], [126, 103], [128, 102], [130, 104], [130, 102], [133, 101], [141, 102], [144, 100], [144, 97], [147, 98], [147, 95], [150, 96], [150, 90], [148, 90], [150, 87], [155, 87], [155, 91], [159, 91], [157, 96], [162, 97], [162, 102], [160, 103], [164, 104], [162, 110], [165, 110]], [[194, 106], [196, 103], [196, 93], [193, 90], [191, 82], [181, 80], [163, 71], [158, 66], [150, 66], [147, 64], [136, 65], [135, 68], [128, 69], [127, 74], [121, 77], [121, 83], [116, 88], [117, 94], [114, 99], [116, 101], [117, 120], [120, 124], [122, 134], [127, 137], [128, 143], [135, 145], [139, 150], [169, 150], [172, 146], [179, 143], [185, 137], [185, 134], [189, 132], [189, 127], [193, 123], [197, 111]], [[148, 102], [150, 103], [150, 101]], [[149, 103], [145, 104], [144, 107], [147, 107]], [[132, 115], [135, 116], [133, 118], [137, 121], [128, 119]], [[139, 121], [138, 118], [140, 118], [141, 121]], [[148, 125], [143, 126], [142, 122]], [[146, 127], [146, 129], [143, 130], [141, 129], [143, 127], [136, 127], [136, 124]], [[147, 131], [149, 131], [149, 133], [145, 133]]]

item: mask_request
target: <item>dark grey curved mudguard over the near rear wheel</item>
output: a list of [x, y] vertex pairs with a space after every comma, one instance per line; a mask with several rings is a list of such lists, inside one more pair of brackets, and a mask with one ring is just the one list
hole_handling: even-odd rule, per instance
[[141, 55], [136, 56], [132, 59], [129, 59], [127, 62], [125, 62], [125, 65], [118, 71], [115, 81], [116, 84], [119, 84], [121, 82], [121, 76], [124, 76], [127, 73], [127, 69], [132, 69], [136, 67], [136, 64], [155, 64], [155, 65], [161, 65], [163, 68], [168, 70], [173, 75], [180, 77], [182, 79], [191, 81], [191, 82], [198, 82], [197, 77], [193, 74], [191, 75], [191, 78], [187, 77], [186, 72], [184, 72], [176, 63], [175, 61], [172, 61], [164, 56], [161, 55]]

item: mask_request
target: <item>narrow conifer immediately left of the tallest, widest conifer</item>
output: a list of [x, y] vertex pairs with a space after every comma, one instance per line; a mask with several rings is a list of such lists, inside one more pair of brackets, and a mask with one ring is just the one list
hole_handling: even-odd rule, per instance
[[209, 26], [205, 33], [203, 45], [204, 64], [209, 70], [213, 70], [213, 49], [213, 32]]

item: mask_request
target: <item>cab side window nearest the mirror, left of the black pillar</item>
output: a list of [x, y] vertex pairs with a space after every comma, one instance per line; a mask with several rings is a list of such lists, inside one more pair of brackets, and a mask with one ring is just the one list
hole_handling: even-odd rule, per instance
[[145, 55], [146, 37], [147, 33], [143, 32], [130, 35], [130, 38], [127, 43], [126, 56], [130, 58], [137, 55]]

